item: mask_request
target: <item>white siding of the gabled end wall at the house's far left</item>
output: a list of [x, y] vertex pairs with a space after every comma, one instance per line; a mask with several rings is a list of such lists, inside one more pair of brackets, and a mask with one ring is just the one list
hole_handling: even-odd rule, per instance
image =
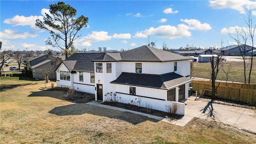
[[73, 76], [70, 73], [70, 80], [60, 80], [60, 71], [67, 71], [69, 72], [68, 68], [62, 63], [60, 64], [58, 70], [56, 71], [56, 85], [58, 87], [67, 87], [67, 88], [72, 88], [73, 87]]

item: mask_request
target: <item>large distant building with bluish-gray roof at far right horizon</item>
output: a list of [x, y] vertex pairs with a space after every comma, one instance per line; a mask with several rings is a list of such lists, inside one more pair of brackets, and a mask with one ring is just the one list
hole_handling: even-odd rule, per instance
[[[244, 47], [244, 44], [240, 47]], [[241, 53], [240, 53], [240, 50], [238, 48], [237, 45], [230, 45], [230, 46], [226, 46], [223, 49], [223, 53], [224, 53], [224, 56], [241, 56]], [[252, 47], [252, 46], [248, 46], [248, 45], [245, 45], [245, 50], [243, 50], [244, 48], [241, 48], [241, 52], [249, 52], [250, 50], [256, 50], [255, 47]]]

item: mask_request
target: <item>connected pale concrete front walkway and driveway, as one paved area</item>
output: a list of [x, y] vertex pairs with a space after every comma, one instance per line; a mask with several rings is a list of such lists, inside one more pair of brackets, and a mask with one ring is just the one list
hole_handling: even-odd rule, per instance
[[151, 114], [145, 114], [142, 112], [100, 104], [102, 102], [93, 101], [86, 104], [122, 112], [131, 112], [134, 114], [147, 116], [148, 118], [175, 124], [177, 126], [185, 126], [188, 122], [190, 122], [190, 120], [196, 117], [206, 120], [213, 120], [216, 122], [222, 122], [224, 124], [229, 124], [256, 133], [256, 110], [226, 106], [221, 104], [211, 104], [207, 102], [195, 101], [194, 99], [195, 97], [191, 96], [188, 98], [188, 100], [186, 100], [185, 115], [180, 120], [171, 120], [169, 118], [162, 118], [160, 116], [154, 116]]

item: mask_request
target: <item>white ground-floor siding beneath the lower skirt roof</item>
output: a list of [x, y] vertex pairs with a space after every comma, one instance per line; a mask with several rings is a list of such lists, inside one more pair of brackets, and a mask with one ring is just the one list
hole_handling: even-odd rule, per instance
[[[176, 103], [178, 105], [178, 111], [176, 114], [184, 115], [185, 114], [185, 104], [180, 102], [172, 102], [167, 100], [166, 90], [155, 89], [155, 88], [144, 88], [139, 86], [136, 87], [136, 95], [130, 95], [130, 86], [116, 84], [116, 99], [118, 102], [122, 103], [132, 103], [136, 106], [141, 106], [145, 108], [152, 108], [154, 110], [160, 110], [168, 112], [166, 106]], [[140, 97], [144, 96], [144, 97]], [[103, 96], [104, 98], [105, 96]], [[150, 98], [146, 98], [150, 97]], [[157, 98], [157, 99], [154, 99]], [[161, 99], [161, 100], [160, 100]]]

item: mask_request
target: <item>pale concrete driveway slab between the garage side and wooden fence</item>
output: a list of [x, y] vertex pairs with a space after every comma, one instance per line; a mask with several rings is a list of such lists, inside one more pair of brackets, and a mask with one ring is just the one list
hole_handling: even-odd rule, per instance
[[187, 104], [185, 119], [197, 117], [214, 120], [256, 133], [256, 110], [195, 101], [194, 99], [195, 97], [191, 96], [184, 102]]

